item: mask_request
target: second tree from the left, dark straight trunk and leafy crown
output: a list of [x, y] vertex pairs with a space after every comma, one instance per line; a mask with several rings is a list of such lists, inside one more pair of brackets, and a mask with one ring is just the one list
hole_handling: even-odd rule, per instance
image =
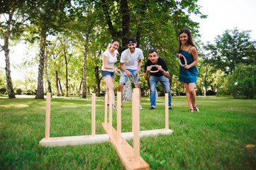
[[43, 99], [43, 72], [45, 62], [45, 47], [47, 36], [62, 30], [67, 22], [65, 8], [69, 6], [68, 0], [35, 0], [28, 1], [28, 15], [31, 25], [35, 26], [34, 33], [40, 40], [40, 54], [38, 65], [38, 88], [35, 99]]

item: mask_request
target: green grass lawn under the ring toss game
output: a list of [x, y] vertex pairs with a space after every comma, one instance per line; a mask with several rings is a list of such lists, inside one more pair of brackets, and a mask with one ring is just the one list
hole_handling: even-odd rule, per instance
[[[45, 103], [0, 98], [0, 169], [124, 169], [109, 142], [41, 147]], [[199, 113], [188, 113], [186, 97], [173, 96], [173, 134], [140, 138], [140, 155], [150, 169], [256, 169], [256, 147], [247, 147], [256, 145], [255, 100], [198, 96], [197, 105]], [[142, 106], [140, 130], [165, 128], [163, 97], [153, 111], [148, 97], [142, 98]], [[91, 135], [91, 98], [52, 98], [50, 121], [51, 137]], [[96, 134], [105, 133], [103, 122], [104, 97], [98, 97]], [[131, 102], [123, 103], [122, 131], [131, 131]]]

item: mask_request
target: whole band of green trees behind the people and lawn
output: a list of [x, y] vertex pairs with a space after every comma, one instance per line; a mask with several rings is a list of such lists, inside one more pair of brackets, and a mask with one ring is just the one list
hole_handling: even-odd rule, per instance
[[[18, 67], [26, 69], [38, 64], [38, 79], [28, 73], [22, 81], [15, 82], [14, 89], [23, 84], [23, 92], [43, 98], [45, 92], [57, 96], [105, 93], [100, 75], [101, 54], [113, 38], [121, 40], [118, 52], [126, 49], [128, 37], [135, 37], [148, 60], [148, 51], [156, 49], [169, 69], [172, 93], [184, 95], [184, 86], [178, 81], [179, 64], [176, 53], [179, 31], [189, 28], [199, 47], [199, 79], [196, 93], [199, 95], [242, 94], [255, 98], [255, 41], [250, 40], [249, 31], [226, 30], [216, 38], [214, 44], [201, 44], [199, 23], [191, 21], [191, 13], [206, 18], [196, 0], [182, 1], [107, 1], [107, 0], [34, 0], [1, 1], [0, 50], [6, 57], [6, 68], [0, 70], [0, 87], [7, 89], [9, 98], [15, 97], [9, 61], [9, 44], [26, 41], [37, 47], [35, 60], [24, 61]], [[118, 58], [120, 60], [120, 56]], [[116, 64], [118, 66], [119, 63]], [[227, 81], [231, 74], [243, 69], [243, 77], [253, 86], [252, 96], [247, 96], [238, 86], [242, 84], [240, 74], [233, 89]], [[239, 71], [237, 71], [239, 72]], [[255, 72], [255, 71], [254, 71]], [[246, 75], [246, 76], [245, 76]], [[141, 69], [140, 76], [143, 76]], [[6, 79], [6, 81], [4, 81]], [[142, 80], [142, 94], [148, 93], [148, 82]], [[115, 78], [116, 91], [118, 77]], [[242, 85], [241, 85], [242, 86]], [[248, 85], [249, 86], [249, 85]], [[20, 86], [21, 87], [21, 86]], [[129, 84], [126, 88], [129, 88]], [[234, 92], [234, 89], [236, 92]], [[164, 93], [157, 86], [159, 93]], [[238, 92], [237, 92], [238, 91]], [[250, 93], [251, 94], [251, 93]]]

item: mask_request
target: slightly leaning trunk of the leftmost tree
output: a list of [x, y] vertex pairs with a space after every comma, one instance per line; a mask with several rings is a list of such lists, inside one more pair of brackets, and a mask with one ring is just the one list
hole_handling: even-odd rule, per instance
[[7, 91], [9, 98], [16, 98], [13, 91], [13, 83], [11, 81], [11, 69], [10, 69], [10, 57], [9, 57], [9, 33], [6, 33], [4, 37], [4, 55], [6, 57], [6, 82], [7, 82]]

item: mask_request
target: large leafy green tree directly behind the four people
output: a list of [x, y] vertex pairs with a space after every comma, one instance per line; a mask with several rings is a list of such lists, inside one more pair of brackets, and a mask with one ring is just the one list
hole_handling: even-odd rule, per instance
[[[112, 38], [121, 40], [120, 54], [126, 48], [127, 38], [133, 36], [142, 50], [152, 48], [160, 50], [161, 57], [166, 59], [171, 72], [175, 68], [172, 67], [174, 66], [172, 63], [178, 49], [179, 30], [182, 28], [196, 30], [198, 26], [198, 23], [191, 21], [184, 11], [199, 14], [202, 18], [206, 17], [200, 13], [199, 6], [194, 0], [93, 2], [101, 16], [99, 19], [108, 26], [108, 33]], [[104, 10], [101, 10], [102, 8]]]

